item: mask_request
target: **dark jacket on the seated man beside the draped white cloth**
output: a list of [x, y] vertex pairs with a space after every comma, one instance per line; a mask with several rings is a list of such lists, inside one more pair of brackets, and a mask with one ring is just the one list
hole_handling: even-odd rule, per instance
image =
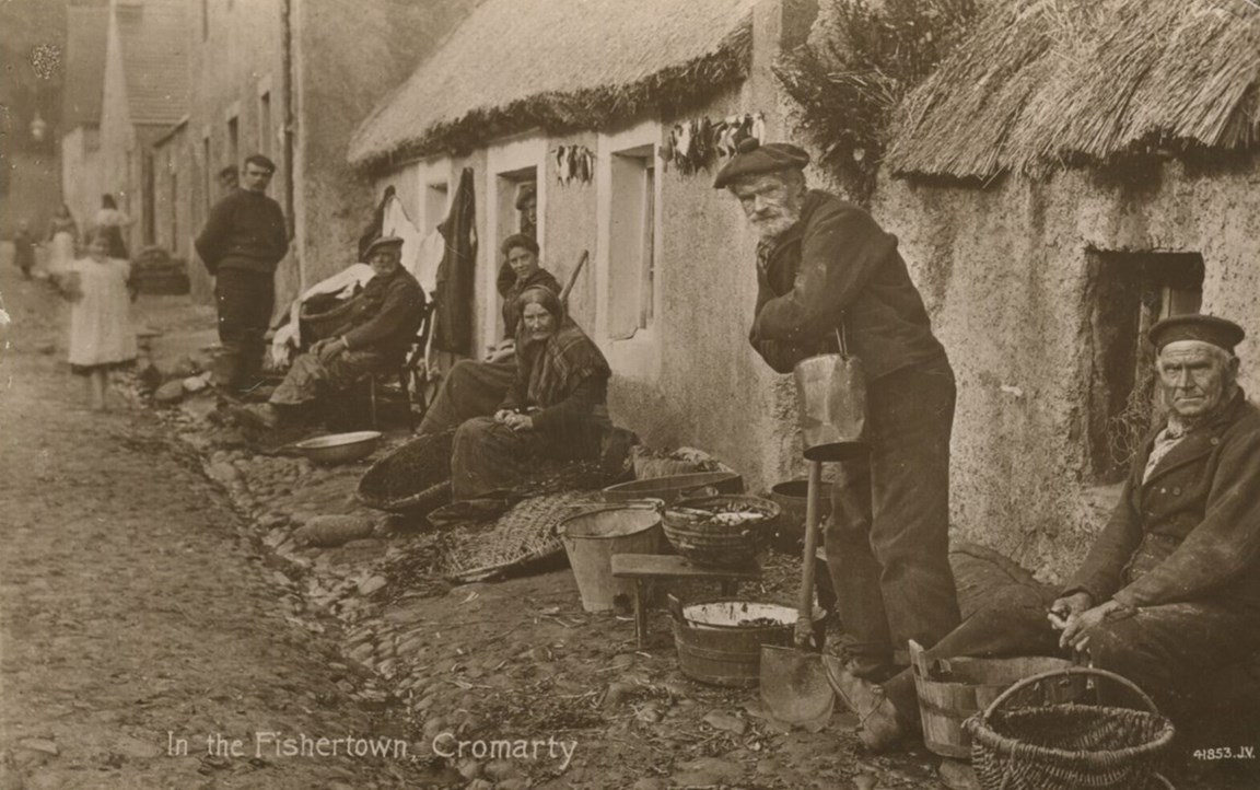
[[425, 291], [411, 272], [399, 267], [388, 280], [368, 280], [354, 304], [353, 328], [343, 335], [349, 350], [401, 362], [425, 316]]

